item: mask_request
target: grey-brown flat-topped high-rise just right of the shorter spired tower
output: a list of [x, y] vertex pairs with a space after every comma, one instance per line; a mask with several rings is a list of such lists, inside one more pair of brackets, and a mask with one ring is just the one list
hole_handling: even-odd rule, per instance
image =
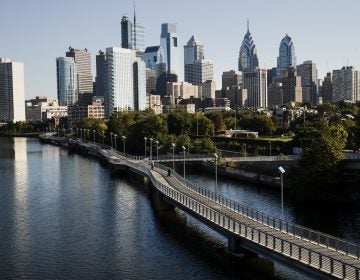
[[317, 104], [318, 87], [317, 87], [317, 69], [316, 64], [311, 60], [304, 61], [296, 67], [297, 75], [301, 77], [302, 102], [311, 102]]

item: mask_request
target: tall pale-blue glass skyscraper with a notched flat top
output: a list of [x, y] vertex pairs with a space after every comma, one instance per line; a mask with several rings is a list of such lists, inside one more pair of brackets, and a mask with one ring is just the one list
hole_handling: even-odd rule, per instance
[[178, 45], [178, 34], [176, 24], [163, 23], [161, 25], [160, 46], [164, 52], [167, 74], [180, 77], [180, 50]]

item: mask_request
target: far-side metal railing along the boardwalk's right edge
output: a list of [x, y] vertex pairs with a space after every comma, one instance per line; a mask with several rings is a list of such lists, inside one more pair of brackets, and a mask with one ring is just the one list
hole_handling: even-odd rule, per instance
[[[168, 170], [169, 167], [155, 164], [157, 168], [162, 170]], [[262, 213], [260, 211], [254, 210], [250, 207], [244, 206], [239, 202], [233, 201], [229, 198], [226, 198], [220, 194], [216, 194], [210, 190], [199, 187], [188, 180], [185, 180], [178, 173], [172, 171], [172, 174], [187, 188], [193, 190], [194, 192], [201, 194], [202, 196], [215, 201], [224, 207], [227, 207], [237, 213], [244, 215], [247, 218], [250, 218], [254, 221], [257, 221], [263, 225], [269, 226], [271, 228], [277, 229], [279, 231], [288, 233], [294, 237], [300, 238], [302, 240], [307, 240], [311, 243], [318, 244], [320, 246], [326, 247], [328, 249], [340, 252], [344, 255], [348, 255], [357, 259], [360, 259], [360, 246], [357, 244], [350, 243], [346, 240], [312, 230], [295, 223], [287, 222], [278, 218], [274, 218], [270, 215]]]

